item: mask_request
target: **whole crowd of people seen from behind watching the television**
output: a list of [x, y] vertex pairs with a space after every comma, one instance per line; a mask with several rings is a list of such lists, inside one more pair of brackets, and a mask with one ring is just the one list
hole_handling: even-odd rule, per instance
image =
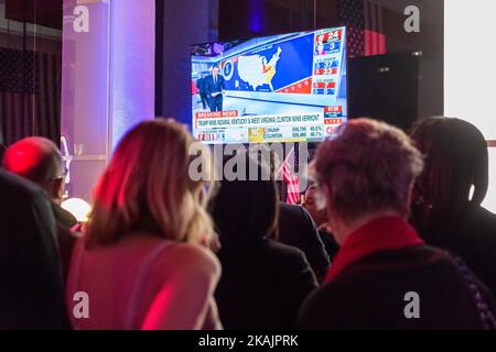
[[172, 120], [137, 125], [79, 228], [56, 145], [9, 146], [0, 329], [496, 329], [488, 152], [468, 122], [352, 120], [319, 146], [301, 206], [272, 176], [195, 180], [193, 143]]

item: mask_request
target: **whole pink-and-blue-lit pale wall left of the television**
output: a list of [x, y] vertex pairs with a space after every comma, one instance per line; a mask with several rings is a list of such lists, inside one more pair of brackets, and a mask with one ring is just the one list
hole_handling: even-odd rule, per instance
[[[82, 3], [89, 32], [73, 26]], [[69, 197], [91, 200], [116, 143], [154, 118], [154, 0], [64, 0], [61, 128]]]

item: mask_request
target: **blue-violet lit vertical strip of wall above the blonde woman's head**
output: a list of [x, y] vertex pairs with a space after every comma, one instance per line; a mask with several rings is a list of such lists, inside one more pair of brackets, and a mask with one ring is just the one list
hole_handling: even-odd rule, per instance
[[114, 150], [129, 129], [155, 116], [155, 0], [110, 3], [109, 138]]

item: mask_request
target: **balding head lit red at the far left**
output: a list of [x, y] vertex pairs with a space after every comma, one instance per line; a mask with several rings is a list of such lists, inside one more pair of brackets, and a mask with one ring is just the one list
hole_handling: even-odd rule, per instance
[[31, 136], [12, 144], [3, 156], [3, 167], [39, 184], [52, 198], [58, 197], [61, 189], [54, 188], [62, 187], [62, 182], [54, 183], [62, 178], [62, 156], [52, 141]]

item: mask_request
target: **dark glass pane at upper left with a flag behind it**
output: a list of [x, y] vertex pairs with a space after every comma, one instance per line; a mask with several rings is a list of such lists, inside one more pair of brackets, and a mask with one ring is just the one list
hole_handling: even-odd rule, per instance
[[60, 1], [0, 0], [0, 114], [3, 143], [28, 135], [58, 143]]

